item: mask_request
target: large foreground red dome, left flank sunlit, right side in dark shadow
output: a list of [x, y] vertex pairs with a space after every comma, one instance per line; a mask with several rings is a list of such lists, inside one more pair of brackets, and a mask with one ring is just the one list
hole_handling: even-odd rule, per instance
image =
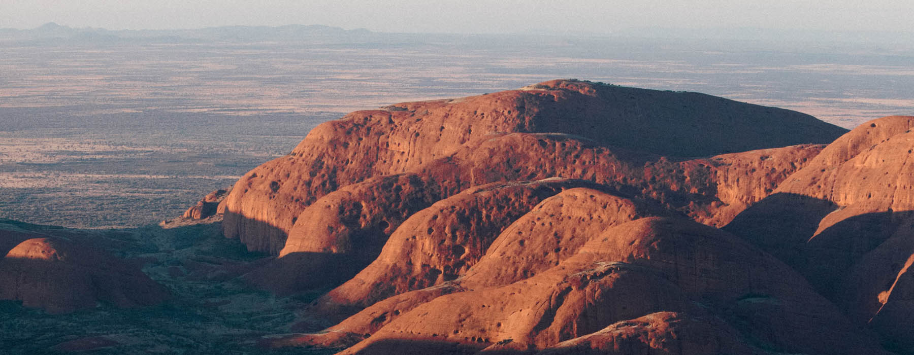
[[701, 224], [642, 218], [591, 238], [575, 256], [534, 277], [390, 313], [398, 317], [343, 353], [381, 353], [412, 341], [442, 352], [484, 350], [506, 339], [517, 350], [545, 349], [660, 310], [694, 312], [694, 302], [749, 325], [740, 336], [766, 349], [881, 352], [773, 257]]

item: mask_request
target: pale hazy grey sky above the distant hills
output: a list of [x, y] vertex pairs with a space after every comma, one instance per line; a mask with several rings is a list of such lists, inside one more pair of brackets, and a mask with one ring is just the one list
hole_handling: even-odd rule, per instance
[[914, 32], [910, 0], [0, 0], [0, 27], [329, 25], [379, 32], [681, 28]]

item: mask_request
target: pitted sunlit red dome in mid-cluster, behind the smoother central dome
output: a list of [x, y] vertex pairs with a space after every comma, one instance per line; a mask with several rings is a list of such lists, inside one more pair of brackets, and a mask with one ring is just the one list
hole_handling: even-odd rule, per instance
[[318, 300], [324, 313], [361, 309], [384, 298], [464, 275], [509, 224], [549, 196], [595, 186], [579, 180], [489, 183], [432, 204], [400, 224], [377, 258]]

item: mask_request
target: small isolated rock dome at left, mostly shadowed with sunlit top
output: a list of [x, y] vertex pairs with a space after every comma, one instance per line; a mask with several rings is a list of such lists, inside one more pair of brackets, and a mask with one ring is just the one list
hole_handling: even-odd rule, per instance
[[136, 266], [101, 250], [59, 238], [28, 239], [0, 261], [0, 299], [66, 313], [98, 302], [119, 308], [154, 305], [168, 297]]

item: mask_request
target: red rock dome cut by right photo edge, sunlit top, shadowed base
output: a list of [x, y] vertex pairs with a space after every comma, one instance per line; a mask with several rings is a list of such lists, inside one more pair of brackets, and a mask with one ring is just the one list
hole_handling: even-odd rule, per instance
[[914, 117], [866, 122], [725, 228], [794, 266], [892, 350], [914, 351]]

